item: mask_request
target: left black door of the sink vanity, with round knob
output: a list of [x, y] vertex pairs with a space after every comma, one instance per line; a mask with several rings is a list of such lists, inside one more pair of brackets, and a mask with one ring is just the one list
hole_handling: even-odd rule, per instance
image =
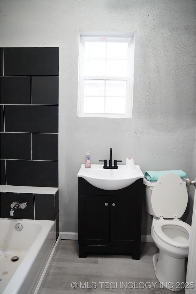
[[110, 196], [78, 196], [79, 245], [108, 245]]

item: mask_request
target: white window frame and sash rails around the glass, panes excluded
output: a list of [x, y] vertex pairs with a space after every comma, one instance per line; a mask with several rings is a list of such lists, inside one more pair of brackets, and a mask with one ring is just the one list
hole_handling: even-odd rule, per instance
[[[85, 42], [126, 42], [128, 43], [127, 76], [85, 76]], [[78, 65], [78, 116], [131, 118], [133, 106], [133, 70], [134, 70], [134, 36], [80, 36], [79, 65]], [[85, 113], [84, 112], [84, 82], [85, 80], [123, 80], [126, 81], [126, 112], [119, 113]]]

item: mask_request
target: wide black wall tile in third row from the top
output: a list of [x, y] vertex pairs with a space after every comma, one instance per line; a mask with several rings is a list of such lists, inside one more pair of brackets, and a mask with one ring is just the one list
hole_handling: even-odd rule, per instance
[[5, 131], [58, 133], [58, 106], [5, 105]]

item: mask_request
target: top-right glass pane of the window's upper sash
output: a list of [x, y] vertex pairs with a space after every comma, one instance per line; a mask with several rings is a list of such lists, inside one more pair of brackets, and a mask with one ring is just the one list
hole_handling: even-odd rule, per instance
[[127, 59], [127, 50], [128, 50], [127, 43], [108, 42], [107, 43], [107, 58], [112, 58], [112, 59], [125, 58], [125, 59]]

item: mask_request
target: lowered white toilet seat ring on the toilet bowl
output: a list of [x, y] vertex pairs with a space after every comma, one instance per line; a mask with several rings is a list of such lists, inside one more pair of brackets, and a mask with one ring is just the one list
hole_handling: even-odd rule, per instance
[[190, 237], [191, 226], [181, 220], [179, 220], [179, 221], [177, 221], [177, 220], [157, 220], [154, 223], [153, 229], [154, 229], [156, 236], [159, 237], [164, 242], [166, 242], [172, 246], [179, 247], [179, 248], [188, 248], [190, 245], [189, 237], [186, 241], [179, 242], [178, 240], [172, 239], [164, 233], [164, 231], [163, 231], [164, 227], [167, 230], [167, 229], [169, 229], [170, 226], [171, 226], [171, 230], [173, 230], [173, 233], [174, 233], [174, 230], [178, 230], [178, 232], [179, 231], [183, 232], [183, 233], [181, 233], [182, 235], [186, 233]]

